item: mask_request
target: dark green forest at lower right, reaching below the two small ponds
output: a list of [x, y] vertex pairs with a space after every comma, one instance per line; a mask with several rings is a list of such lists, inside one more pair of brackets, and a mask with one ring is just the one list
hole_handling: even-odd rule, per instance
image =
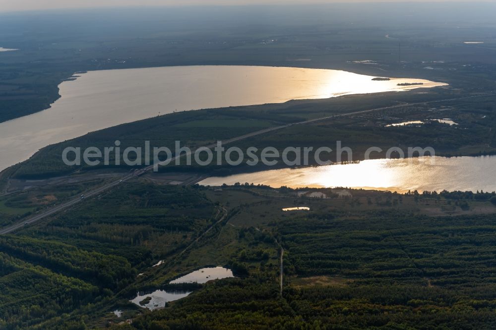
[[496, 216], [401, 209], [252, 219], [286, 250], [282, 297], [276, 276], [250, 272], [124, 329], [494, 329]]

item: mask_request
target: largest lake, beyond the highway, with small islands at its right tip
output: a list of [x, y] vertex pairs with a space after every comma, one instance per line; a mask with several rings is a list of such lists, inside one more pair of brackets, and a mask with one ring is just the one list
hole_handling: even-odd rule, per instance
[[[126, 122], [175, 110], [282, 103], [445, 84], [421, 79], [372, 81], [322, 69], [178, 66], [102, 70], [63, 82], [51, 109], [0, 123], [0, 170], [39, 149]], [[397, 86], [421, 82], [424, 85]]]

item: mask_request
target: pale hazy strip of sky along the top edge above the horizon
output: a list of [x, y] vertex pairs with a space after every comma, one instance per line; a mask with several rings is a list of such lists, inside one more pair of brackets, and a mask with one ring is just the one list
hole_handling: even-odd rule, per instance
[[[434, 0], [449, 1], [449, 0]], [[458, 0], [459, 1], [459, 0]], [[484, 0], [483, 0], [484, 1]], [[428, 0], [0, 0], [0, 11], [38, 10], [54, 8], [191, 5], [191, 4], [289, 4], [332, 2], [428, 2]], [[466, 2], [472, 2], [467, 0]], [[485, 2], [495, 2], [486, 0]]]

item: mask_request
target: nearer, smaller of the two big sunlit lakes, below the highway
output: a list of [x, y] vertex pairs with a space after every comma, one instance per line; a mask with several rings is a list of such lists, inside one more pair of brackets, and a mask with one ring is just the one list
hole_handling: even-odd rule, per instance
[[236, 182], [269, 185], [274, 188], [349, 187], [397, 192], [414, 191], [496, 191], [496, 156], [422, 157], [381, 159], [359, 164], [328, 165], [297, 169], [273, 169], [227, 177], [210, 177], [202, 185], [233, 185]]

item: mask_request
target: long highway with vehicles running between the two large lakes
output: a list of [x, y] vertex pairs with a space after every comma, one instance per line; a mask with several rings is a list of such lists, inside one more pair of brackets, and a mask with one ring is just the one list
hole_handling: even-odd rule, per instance
[[[240, 136], [237, 136], [237, 137], [234, 137], [232, 139], [228, 139], [228, 140], [225, 140], [225, 141], [222, 141], [222, 144], [228, 144], [228, 143], [233, 143], [233, 142], [236, 142], [236, 141], [240, 141], [240, 140], [244, 140], [244, 139], [248, 139], [250, 137], [254, 137], [254, 136], [258, 136], [258, 135], [263, 135], [263, 134], [267, 134], [267, 133], [270, 133], [270, 132], [274, 132], [274, 131], [277, 131], [277, 130], [281, 130], [283, 128], [287, 128], [287, 127], [290, 127], [290, 126], [293, 126], [293, 125], [305, 125], [305, 124], [310, 124], [310, 123], [314, 123], [314, 122], [318, 122], [318, 121], [323, 121], [323, 120], [327, 120], [327, 119], [332, 119], [332, 118], [337, 118], [337, 117], [344, 117], [344, 116], [351, 116], [351, 115], [356, 115], [356, 114], [362, 114], [362, 113], [368, 113], [368, 112], [373, 112], [373, 111], [380, 111], [380, 110], [390, 110], [390, 109], [395, 109], [395, 108], [400, 108], [400, 107], [409, 107], [409, 106], [416, 106], [416, 105], [425, 105], [425, 104], [432, 104], [432, 103], [439, 103], [439, 102], [449, 102], [449, 101], [457, 101], [457, 100], [463, 100], [463, 99], [470, 99], [470, 98], [478, 98], [478, 97], [488, 97], [488, 96], [494, 96], [495, 94], [489, 94], [489, 95], [477, 95], [477, 96], [468, 96], [468, 97], [461, 97], [461, 98], [455, 98], [455, 99], [445, 99], [445, 100], [437, 100], [437, 101], [428, 101], [428, 102], [418, 102], [418, 103], [406, 103], [406, 104], [400, 104], [400, 105], [395, 105], [395, 106], [389, 106], [389, 107], [383, 107], [383, 108], [374, 108], [374, 109], [369, 109], [369, 110], [361, 110], [361, 111], [354, 111], [354, 112], [347, 112], [347, 113], [341, 113], [341, 114], [334, 114], [334, 115], [330, 115], [330, 116], [325, 116], [325, 117], [320, 117], [320, 118], [315, 118], [315, 119], [310, 119], [310, 120], [305, 120], [305, 121], [300, 121], [300, 122], [296, 122], [296, 123], [290, 123], [290, 124], [285, 124], [285, 125], [281, 125], [281, 126], [276, 126], [276, 127], [271, 127], [271, 128], [266, 128], [266, 129], [262, 129], [262, 130], [259, 130], [259, 131], [255, 131], [255, 132], [252, 132], [252, 133], [248, 133], [248, 134], [245, 134], [245, 135], [240, 135]], [[208, 149], [211, 149], [211, 148], [214, 148], [216, 147], [217, 144], [211, 144], [211, 145], [208, 145], [208, 146], [205, 146], [205, 147], [202, 147], [202, 148], [208, 148]], [[169, 163], [172, 163], [172, 162], [175, 162], [176, 159], [178, 158], [181, 158], [181, 157], [186, 157], [186, 156], [191, 156], [194, 154], [195, 151], [190, 151], [188, 153], [184, 153], [184, 154], [181, 154], [179, 156], [175, 156], [173, 157], [170, 161], [167, 160], [167, 161], [164, 161], [162, 163], [159, 163], [159, 165], [167, 165]], [[107, 183], [103, 186], [100, 186], [100, 187], [95, 187], [91, 190], [88, 190], [84, 193], [84, 198], [81, 198], [81, 197], [75, 197], [67, 202], [64, 202], [60, 205], [57, 205], [49, 210], [46, 210], [38, 215], [35, 215], [27, 220], [23, 220], [23, 221], [20, 221], [18, 223], [15, 223], [13, 225], [10, 225], [10, 226], [7, 226], [5, 228], [2, 228], [0, 229], [0, 235], [5, 235], [5, 234], [8, 234], [8, 233], [11, 233], [19, 228], [22, 228], [24, 226], [27, 226], [27, 225], [30, 225], [30, 224], [33, 224], [35, 222], [38, 222], [46, 217], [49, 217], [55, 213], [58, 213], [58, 212], [61, 212], [63, 210], [66, 210], [66, 209], [69, 209], [71, 208], [72, 206], [78, 204], [78, 203], [82, 203], [84, 202], [87, 198], [89, 197], [93, 197], [95, 195], [99, 195], [101, 194], [102, 192], [106, 191], [106, 190], [109, 190], [125, 181], [128, 181], [134, 177], [137, 177], [137, 176], [140, 176], [148, 171], [151, 171], [153, 170], [153, 167], [155, 165], [149, 165], [145, 168], [142, 168], [142, 169], [139, 169], [139, 170], [135, 170], [134, 172], [132, 172], [131, 174], [128, 174], [126, 176], [124, 176], [123, 178], [119, 179], [119, 180], [116, 180], [116, 181], [113, 181], [113, 182], [110, 182], [110, 183]]]

